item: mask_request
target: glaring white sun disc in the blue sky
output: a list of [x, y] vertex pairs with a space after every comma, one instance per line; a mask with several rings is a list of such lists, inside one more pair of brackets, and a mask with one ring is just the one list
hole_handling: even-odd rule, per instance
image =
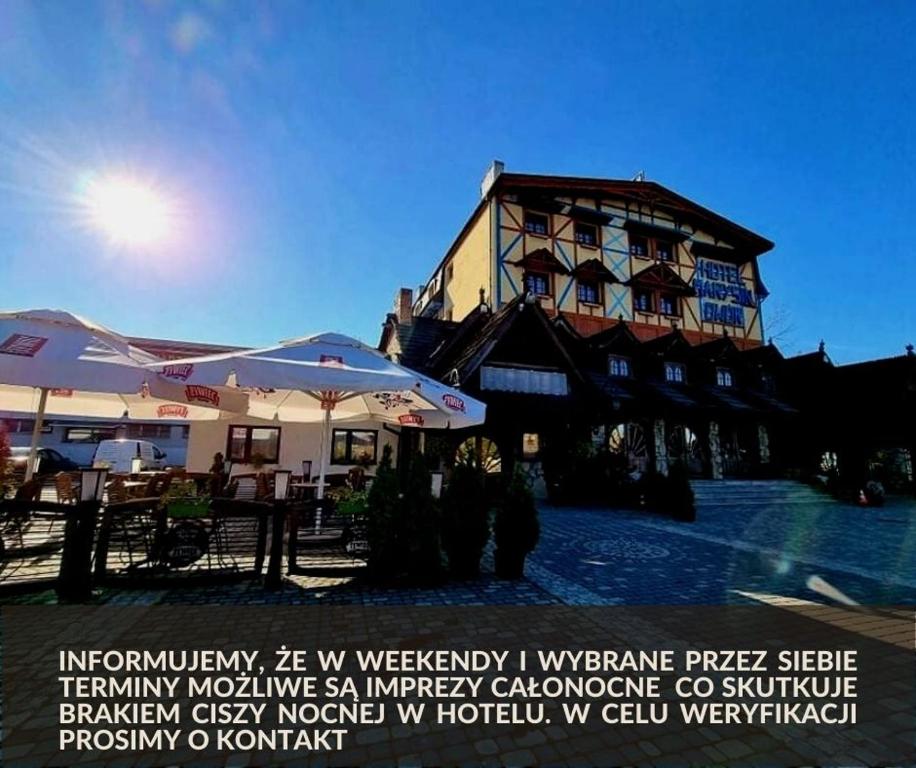
[[123, 176], [93, 179], [84, 201], [93, 227], [117, 245], [153, 246], [173, 234], [173, 205], [142, 181]]

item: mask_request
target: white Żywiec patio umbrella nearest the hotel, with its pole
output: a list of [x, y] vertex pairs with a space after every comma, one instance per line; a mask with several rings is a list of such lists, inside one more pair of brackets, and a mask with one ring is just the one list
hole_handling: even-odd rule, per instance
[[324, 495], [332, 420], [368, 418], [457, 429], [482, 424], [486, 415], [483, 403], [336, 333], [264, 349], [174, 360], [154, 369], [166, 378], [240, 388], [249, 395], [251, 416], [323, 422], [319, 498]]

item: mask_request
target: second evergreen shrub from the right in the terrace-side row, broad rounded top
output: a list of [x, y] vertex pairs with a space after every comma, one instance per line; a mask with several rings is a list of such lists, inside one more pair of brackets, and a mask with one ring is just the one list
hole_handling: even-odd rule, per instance
[[489, 538], [486, 478], [476, 461], [461, 461], [442, 495], [442, 546], [454, 576], [473, 578], [480, 573]]

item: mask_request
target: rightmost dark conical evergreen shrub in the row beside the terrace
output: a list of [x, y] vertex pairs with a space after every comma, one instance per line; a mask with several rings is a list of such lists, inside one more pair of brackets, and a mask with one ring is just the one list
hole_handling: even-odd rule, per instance
[[501, 579], [520, 579], [525, 558], [541, 535], [537, 506], [525, 475], [516, 467], [496, 510], [493, 538], [496, 542], [496, 575]]

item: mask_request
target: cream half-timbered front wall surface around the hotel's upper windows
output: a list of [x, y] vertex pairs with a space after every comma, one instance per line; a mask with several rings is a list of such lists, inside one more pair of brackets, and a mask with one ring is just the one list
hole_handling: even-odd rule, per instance
[[[574, 220], [563, 214], [547, 214], [550, 217], [551, 224], [549, 237], [527, 234], [523, 229], [523, 207], [513, 202], [509, 197], [494, 201], [493, 205], [498, 206], [498, 212], [495, 216], [498, 221], [497, 242], [499, 245], [499, 254], [496, 257], [498, 270], [496, 298], [499, 303], [510, 301], [522, 291], [523, 269], [509, 262], [521, 259], [526, 253], [546, 248], [569, 270], [584, 261], [598, 258], [621, 282], [625, 282], [633, 274], [655, 263], [651, 259], [641, 259], [630, 255], [628, 233], [623, 227], [625, 220], [630, 219], [659, 227], [675, 228], [675, 222], [670, 217], [653, 212], [648, 206], [637, 206], [633, 203], [628, 205], [621, 200], [597, 201], [581, 198], [573, 200], [559, 197], [555, 199], [563, 203], [575, 204], [577, 207], [600, 208], [602, 212], [614, 216], [609, 225], [601, 227], [600, 247], [593, 248], [577, 244], [574, 238]], [[542, 212], [539, 211], [539, 213]], [[666, 263], [685, 282], [690, 283], [693, 280], [696, 266], [695, 258], [690, 253], [691, 242], [715, 243], [716, 241], [710, 234], [694, 229], [690, 225], [684, 225], [681, 227], [681, 231], [689, 233], [689, 238], [677, 245], [677, 263]], [[718, 245], [727, 244], [719, 242]], [[742, 265], [741, 275], [747, 287], [753, 288], [756, 293], [758, 286], [754, 285], [752, 262]], [[626, 286], [602, 284], [603, 303], [601, 306], [594, 306], [582, 305], [578, 302], [575, 278], [571, 275], [557, 274], [553, 276], [553, 280], [553, 296], [542, 299], [542, 305], [547, 310], [559, 310], [579, 316], [604, 318], [605, 322], [608, 319], [616, 319], [623, 316], [629, 322], [657, 326], [660, 332], [663, 329], [669, 329], [672, 325], [672, 319], [669, 317], [657, 314], [635, 313], [631, 290]], [[700, 314], [700, 300], [696, 297], [682, 299], [681, 315], [681, 318], [676, 322], [685, 331], [721, 336], [723, 328], [725, 328], [729, 335], [734, 338], [756, 341], [763, 339], [763, 329], [758, 309], [745, 308], [744, 328], [703, 322]]]

